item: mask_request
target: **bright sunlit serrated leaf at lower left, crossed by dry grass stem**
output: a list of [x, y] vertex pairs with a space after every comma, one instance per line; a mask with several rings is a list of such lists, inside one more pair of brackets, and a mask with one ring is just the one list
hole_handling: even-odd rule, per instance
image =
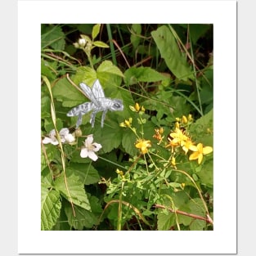
[[66, 200], [70, 201], [71, 197], [74, 204], [79, 205], [83, 209], [91, 210], [88, 195], [86, 194], [86, 191], [84, 191], [83, 182], [79, 181], [79, 176], [71, 174], [69, 177], [66, 177], [66, 182], [69, 192], [67, 191], [63, 174], [56, 178], [56, 181], [54, 182], [55, 189], [60, 191], [61, 195], [63, 195]]

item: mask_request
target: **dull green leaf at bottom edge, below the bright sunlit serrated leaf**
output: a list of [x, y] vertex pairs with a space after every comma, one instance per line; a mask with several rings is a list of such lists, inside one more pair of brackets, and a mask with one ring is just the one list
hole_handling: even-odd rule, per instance
[[97, 218], [88, 210], [74, 205], [74, 212], [75, 217], [71, 206], [65, 206], [65, 214], [71, 227], [77, 230], [83, 230], [83, 227], [91, 228], [93, 225], [97, 224]]

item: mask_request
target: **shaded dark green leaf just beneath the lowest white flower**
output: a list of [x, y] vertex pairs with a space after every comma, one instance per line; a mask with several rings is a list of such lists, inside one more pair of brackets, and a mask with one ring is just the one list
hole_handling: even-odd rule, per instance
[[93, 168], [92, 164], [71, 163], [70, 166], [66, 169], [66, 172], [74, 173], [76, 176], [79, 176], [80, 182], [83, 182], [84, 185], [97, 183], [101, 179], [97, 169]]

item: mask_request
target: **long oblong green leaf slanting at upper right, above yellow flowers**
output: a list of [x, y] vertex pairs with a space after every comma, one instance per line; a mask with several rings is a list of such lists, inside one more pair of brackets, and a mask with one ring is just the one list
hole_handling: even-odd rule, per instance
[[191, 68], [187, 64], [186, 56], [180, 52], [176, 39], [170, 29], [163, 25], [151, 32], [151, 34], [168, 69], [171, 70], [177, 79], [185, 81], [187, 79], [194, 79]]

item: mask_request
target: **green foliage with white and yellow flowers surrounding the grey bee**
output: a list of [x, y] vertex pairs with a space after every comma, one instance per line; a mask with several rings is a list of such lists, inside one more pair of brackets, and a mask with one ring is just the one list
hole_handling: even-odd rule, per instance
[[[41, 32], [41, 229], [213, 230], [213, 26]], [[124, 110], [76, 128], [96, 79]]]

